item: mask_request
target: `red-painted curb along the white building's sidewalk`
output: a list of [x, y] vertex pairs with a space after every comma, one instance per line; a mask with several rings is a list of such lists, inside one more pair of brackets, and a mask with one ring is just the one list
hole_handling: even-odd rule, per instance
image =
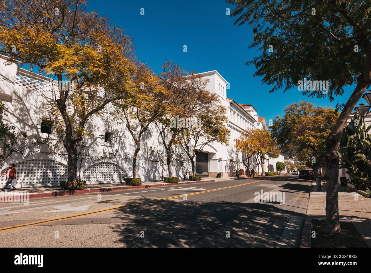
[[[163, 184], [154, 184], [154, 185], [142, 185], [142, 186], [125, 186], [125, 187], [115, 187], [115, 188], [102, 188], [102, 189], [81, 189], [76, 191], [57, 191], [57, 192], [43, 192], [40, 194], [29, 194], [28, 199], [36, 198], [47, 198], [47, 197], [56, 197], [56, 196], [65, 196], [65, 195], [78, 195], [78, 194], [90, 194], [95, 192], [112, 192], [112, 191], [122, 191], [126, 189], [141, 189], [141, 188], [152, 188], [152, 187], [161, 187], [169, 185], [186, 185], [194, 183], [204, 183], [204, 182], [215, 182], [215, 180], [203, 180], [203, 181], [189, 181], [181, 183], [163, 183]], [[27, 194], [19, 195], [19, 198], [27, 196]]]

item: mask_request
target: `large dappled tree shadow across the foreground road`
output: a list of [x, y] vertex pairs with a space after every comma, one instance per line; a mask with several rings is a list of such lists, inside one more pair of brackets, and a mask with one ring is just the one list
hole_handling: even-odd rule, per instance
[[113, 231], [127, 247], [275, 247], [290, 215], [305, 216], [260, 202], [152, 200], [118, 209]]

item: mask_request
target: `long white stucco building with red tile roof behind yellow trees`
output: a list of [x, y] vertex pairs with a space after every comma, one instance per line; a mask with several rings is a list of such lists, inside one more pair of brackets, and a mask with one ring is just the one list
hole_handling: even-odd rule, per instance
[[[16, 131], [26, 132], [27, 143], [35, 137], [55, 137], [56, 132], [52, 126], [47, 126], [47, 121], [52, 120], [48, 105], [55, 99], [53, 86], [58, 87], [58, 84], [17, 64], [5, 65], [5, 62], [5, 59], [0, 59], [0, 100], [8, 108], [3, 116], [4, 123], [12, 124]], [[226, 177], [236, 175], [235, 170], [238, 169], [244, 175], [246, 170], [241, 162], [241, 154], [236, 162], [236, 139], [245, 128], [266, 128], [266, 121], [258, 116], [251, 104], [239, 104], [227, 98], [227, 81], [216, 70], [201, 75], [209, 79], [207, 90], [218, 94], [220, 103], [227, 108], [229, 121], [225, 125], [231, 130], [231, 135], [229, 145], [211, 143], [197, 151], [196, 173], [206, 177], [216, 177], [221, 173], [222, 177]], [[92, 134], [85, 139], [91, 157], [82, 160], [79, 177], [87, 183], [122, 182], [123, 178], [132, 176], [134, 142], [125, 124], [112, 122], [109, 115], [112, 107], [107, 105], [103, 114], [94, 116], [86, 126], [86, 130]], [[191, 171], [188, 157], [180, 147], [174, 147], [174, 150], [177, 159], [171, 165], [173, 176], [187, 178]], [[137, 160], [137, 177], [142, 181], [161, 180], [168, 175], [167, 166], [154, 156], [161, 151], [164, 149], [158, 129], [152, 125], [142, 138]], [[266, 161], [265, 171], [275, 171], [277, 161], [284, 162], [283, 156], [270, 159], [269, 164]], [[12, 155], [7, 158], [5, 166], [9, 163], [16, 164], [17, 187], [53, 186], [67, 177], [66, 157], [50, 153], [46, 144], [37, 144], [23, 153]], [[1, 176], [0, 187], [5, 181], [5, 176]]]

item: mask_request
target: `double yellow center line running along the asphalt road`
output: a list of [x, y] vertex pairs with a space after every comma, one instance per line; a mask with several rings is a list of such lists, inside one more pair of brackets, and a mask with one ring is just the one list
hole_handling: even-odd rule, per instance
[[[229, 186], [229, 187], [224, 187], [224, 188], [209, 189], [207, 191], [201, 191], [201, 192], [193, 192], [191, 194], [187, 194], [187, 196], [196, 195], [196, 194], [205, 194], [207, 192], [220, 191], [222, 189], [230, 189], [230, 188], [234, 188], [234, 187], [239, 187], [239, 186], [244, 186], [244, 185], [257, 183], [257, 182], [260, 182], [260, 181], [263, 181], [263, 180], [265, 180], [265, 179], [257, 180], [257, 181], [249, 182], [249, 183], [243, 183], [243, 184], [239, 184], [239, 185], [234, 185], [234, 186]], [[146, 204], [146, 203], [150, 203], [150, 202], [157, 202], [157, 201], [167, 200], [167, 199], [176, 199], [176, 198], [181, 198], [183, 196], [184, 195], [182, 194], [182, 195], [176, 195], [176, 196], [160, 198], [160, 199], [151, 199], [151, 200], [148, 200], [148, 201], [137, 202], [137, 203], [128, 204], [128, 205], [122, 205], [122, 206], [119, 206], [119, 207], [106, 208], [106, 209], [101, 209], [101, 210], [98, 210], [98, 211], [90, 211], [90, 212], [86, 212], [86, 213], [82, 213], [82, 214], [75, 214], [75, 215], [69, 215], [69, 216], [64, 216], [64, 217], [59, 217], [59, 218], [53, 218], [53, 219], [42, 220], [42, 221], [37, 221], [37, 222], [31, 222], [31, 223], [27, 223], [27, 224], [23, 224], [23, 225], [13, 225], [13, 226], [10, 226], [10, 227], [2, 227], [2, 228], [0, 228], [0, 232], [16, 230], [16, 229], [24, 228], [24, 227], [33, 227], [35, 225], [41, 225], [41, 224], [52, 223], [52, 222], [57, 222], [57, 221], [63, 221], [63, 220], [68, 220], [68, 219], [73, 219], [73, 218], [78, 218], [78, 217], [84, 217], [84, 216], [87, 216], [87, 215], [93, 215], [93, 214], [98, 214], [98, 213], [102, 213], [102, 212], [113, 211], [113, 210], [120, 209], [120, 208], [128, 208], [128, 207], [138, 206], [138, 205], [142, 205], [142, 204]]]

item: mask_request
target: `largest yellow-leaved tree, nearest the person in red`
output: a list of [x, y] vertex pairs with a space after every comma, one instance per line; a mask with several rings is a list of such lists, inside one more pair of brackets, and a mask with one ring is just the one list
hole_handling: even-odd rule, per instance
[[[68, 181], [86, 153], [87, 121], [132, 89], [131, 38], [96, 13], [86, 1], [9, 0], [0, 3], [0, 54], [58, 81], [50, 105], [53, 127], [68, 160]], [[67, 84], [65, 84], [67, 81]]]

